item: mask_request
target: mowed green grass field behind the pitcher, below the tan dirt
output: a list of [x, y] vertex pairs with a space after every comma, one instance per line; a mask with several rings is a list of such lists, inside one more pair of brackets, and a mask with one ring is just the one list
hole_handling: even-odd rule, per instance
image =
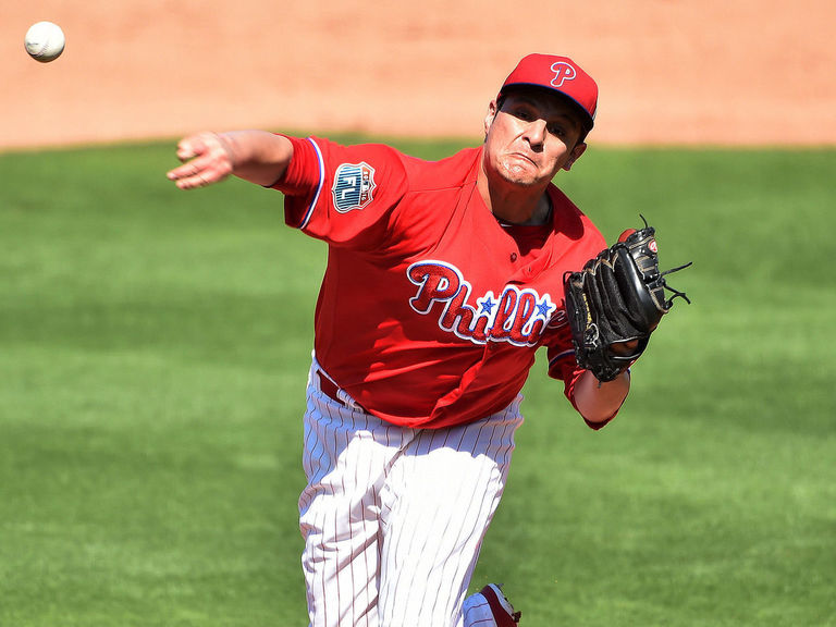
[[[438, 158], [456, 148], [406, 143]], [[171, 145], [0, 155], [0, 625], [306, 625], [324, 248]], [[592, 146], [558, 184], [688, 291], [593, 432], [543, 367], [474, 588], [524, 627], [836, 626], [834, 150]]]

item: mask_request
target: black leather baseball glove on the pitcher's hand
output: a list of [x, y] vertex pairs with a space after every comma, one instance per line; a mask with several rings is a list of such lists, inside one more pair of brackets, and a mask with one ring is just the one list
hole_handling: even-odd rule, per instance
[[[612, 381], [639, 358], [677, 296], [690, 304], [664, 276], [691, 263], [660, 272], [655, 229], [641, 219], [643, 229], [625, 231], [580, 272], [564, 275], [575, 356], [599, 381]], [[673, 292], [668, 299], [665, 290]]]

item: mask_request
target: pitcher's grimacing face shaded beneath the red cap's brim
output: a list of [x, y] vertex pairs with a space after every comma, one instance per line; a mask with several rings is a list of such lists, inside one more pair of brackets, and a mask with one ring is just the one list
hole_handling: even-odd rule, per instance
[[485, 118], [485, 171], [524, 186], [548, 184], [586, 150], [571, 104], [548, 93], [509, 93]]

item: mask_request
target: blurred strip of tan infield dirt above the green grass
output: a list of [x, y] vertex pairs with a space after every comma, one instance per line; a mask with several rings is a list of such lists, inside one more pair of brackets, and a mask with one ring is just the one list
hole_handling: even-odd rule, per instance
[[[836, 142], [827, 0], [3, 0], [0, 148], [266, 127], [480, 136], [528, 52], [600, 84], [597, 143]], [[58, 62], [29, 24], [66, 34]]]

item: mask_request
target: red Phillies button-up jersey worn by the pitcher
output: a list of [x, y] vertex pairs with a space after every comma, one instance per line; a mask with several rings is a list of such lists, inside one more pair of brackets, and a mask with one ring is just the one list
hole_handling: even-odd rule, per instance
[[481, 148], [425, 161], [290, 139], [275, 185], [285, 221], [329, 245], [317, 360], [359, 405], [404, 427], [478, 420], [514, 401], [541, 346], [573, 399], [582, 370], [563, 275], [606, 244], [557, 187], [548, 189], [552, 229], [527, 254], [477, 190]]

